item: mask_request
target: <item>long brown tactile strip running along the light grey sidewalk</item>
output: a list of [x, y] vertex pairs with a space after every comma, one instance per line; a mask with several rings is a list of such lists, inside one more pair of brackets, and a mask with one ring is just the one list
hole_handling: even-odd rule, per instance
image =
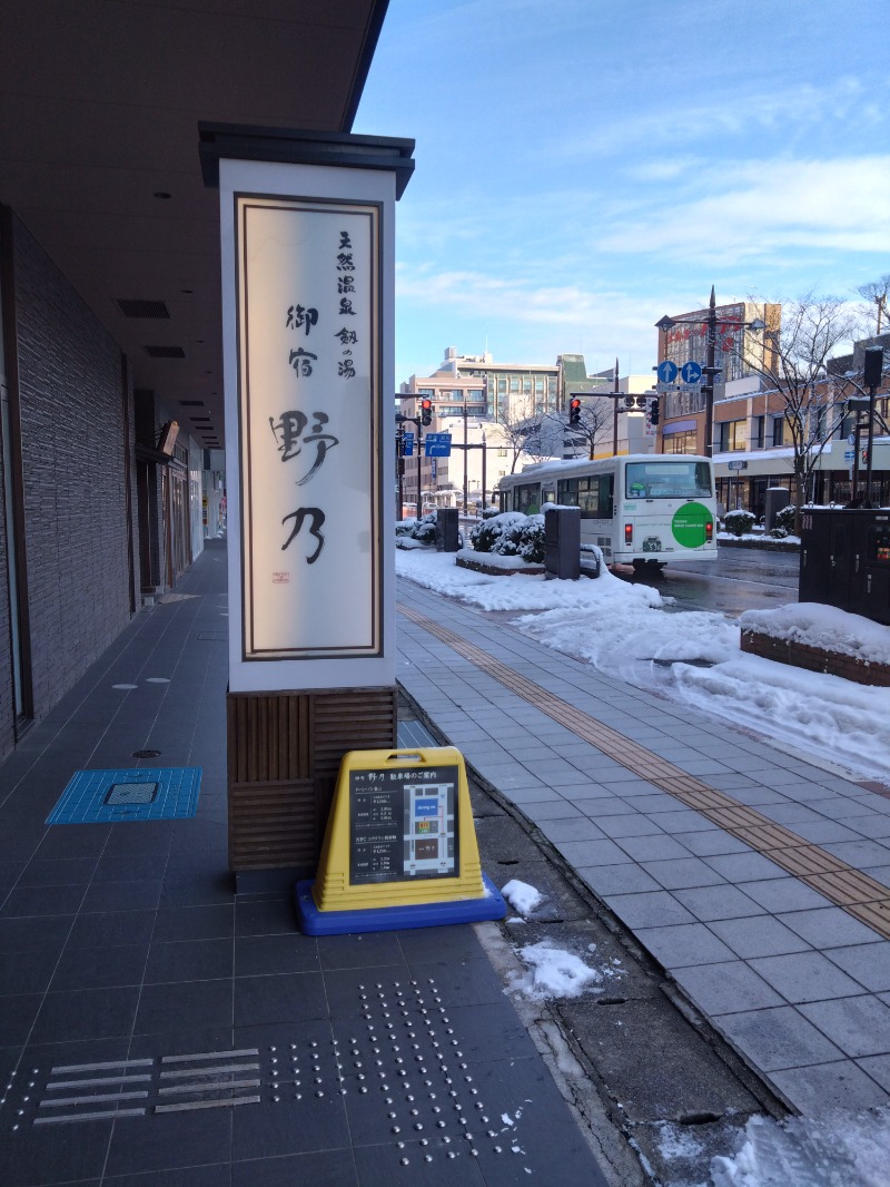
[[565, 725], [585, 742], [590, 742], [604, 755], [632, 770], [641, 779], [646, 779], [660, 791], [673, 795], [686, 807], [694, 808], [725, 832], [743, 840], [801, 882], [813, 887], [884, 939], [890, 939], [890, 891], [885, 886], [803, 837], [799, 837], [790, 829], [777, 825], [755, 808], [739, 804], [714, 787], [708, 787], [700, 779], [689, 775], [680, 767], [674, 767], [617, 730], [597, 722], [574, 705], [560, 700], [552, 692], [514, 672], [473, 643], [468, 643], [460, 635], [440, 626], [433, 618], [401, 603], [399, 611], [447, 643], [458, 655], [481, 668], [498, 684], [515, 692], [517, 697], [522, 697], [535, 709], [560, 725]]

